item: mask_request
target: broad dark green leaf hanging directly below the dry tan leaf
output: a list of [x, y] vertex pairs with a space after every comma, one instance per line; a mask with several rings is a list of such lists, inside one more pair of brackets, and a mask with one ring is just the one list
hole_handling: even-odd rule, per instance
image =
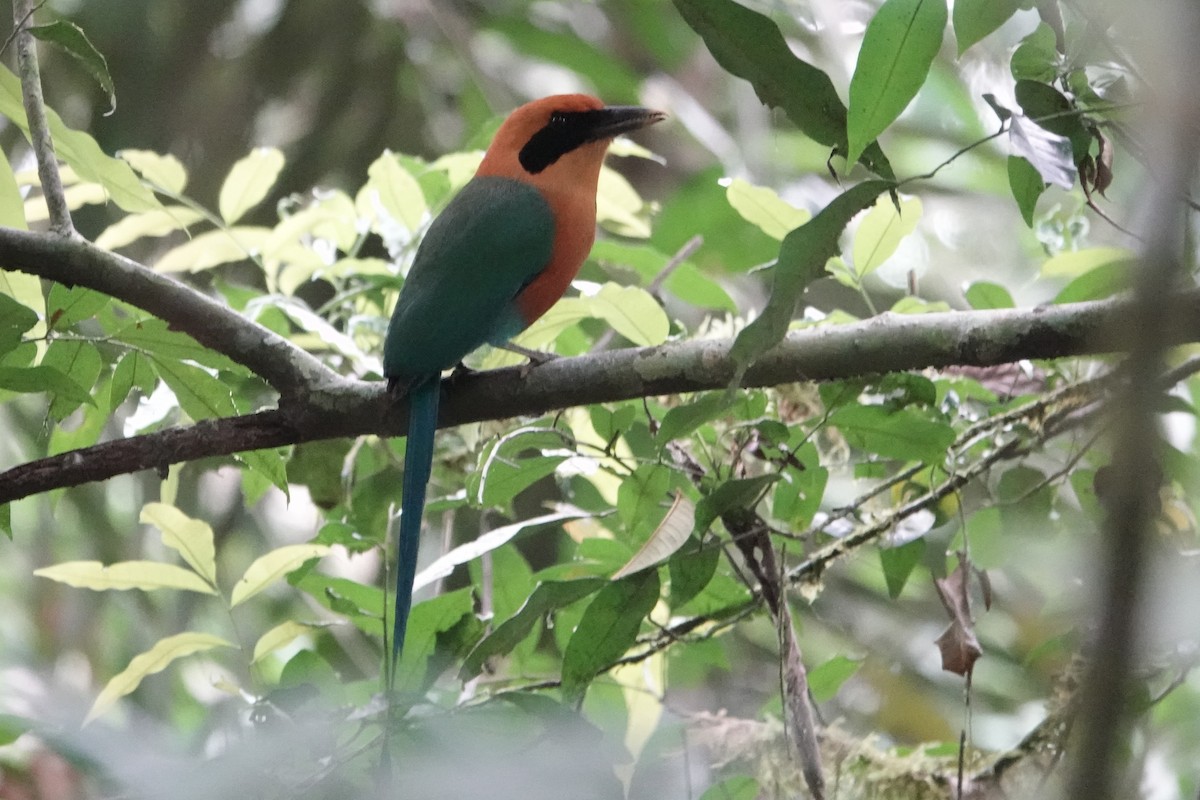
[[592, 679], [634, 646], [642, 620], [659, 601], [658, 570], [601, 589], [583, 612], [563, 654], [563, 699], [578, 703]]

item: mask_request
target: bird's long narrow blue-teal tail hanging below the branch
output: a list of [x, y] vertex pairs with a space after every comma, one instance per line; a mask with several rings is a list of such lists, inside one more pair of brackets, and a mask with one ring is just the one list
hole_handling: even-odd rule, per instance
[[438, 397], [442, 378], [436, 375], [414, 386], [408, 395], [408, 444], [404, 450], [404, 481], [401, 495], [400, 547], [396, 557], [396, 610], [391, 633], [391, 676], [404, 650], [408, 613], [413, 608], [413, 581], [416, 577], [416, 549], [421, 541], [425, 488], [433, 465], [433, 433], [438, 427]]

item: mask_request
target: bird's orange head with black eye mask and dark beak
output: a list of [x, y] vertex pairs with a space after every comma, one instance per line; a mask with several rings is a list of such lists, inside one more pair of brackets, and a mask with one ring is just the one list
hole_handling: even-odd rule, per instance
[[496, 132], [480, 175], [539, 186], [575, 184], [595, 192], [608, 143], [666, 119], [636, 106], [605, 106], [589, 95], [553, 95], [517, 108]]

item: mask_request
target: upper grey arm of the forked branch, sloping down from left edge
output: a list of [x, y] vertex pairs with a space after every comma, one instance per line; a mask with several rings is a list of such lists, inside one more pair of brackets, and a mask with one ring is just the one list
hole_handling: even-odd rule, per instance
[[284, 402], [311, 401], [314, 392], [346, 381], [312, 354], [224, 303], [82, 239], [0, 228], [0, 264], [68, 287], [95, 289], [148, 311], [248, 367]]

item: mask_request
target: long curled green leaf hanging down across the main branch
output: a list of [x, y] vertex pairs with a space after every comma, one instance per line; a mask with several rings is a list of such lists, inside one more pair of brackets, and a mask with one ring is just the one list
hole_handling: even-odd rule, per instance
[[839, 194], [817, 216], [787, 234], [779, 248], [770, 297], [762, 314], [745, 326], [730, 355], [738, 365], [734, 385], [760, 355], [773, 348], [787, 333], [796, 302], [805, 287], [821, 277], [826, 261], [838, 254], [842, 230], [859, 211], [892, 188], [888, 181], [865, 181]]

